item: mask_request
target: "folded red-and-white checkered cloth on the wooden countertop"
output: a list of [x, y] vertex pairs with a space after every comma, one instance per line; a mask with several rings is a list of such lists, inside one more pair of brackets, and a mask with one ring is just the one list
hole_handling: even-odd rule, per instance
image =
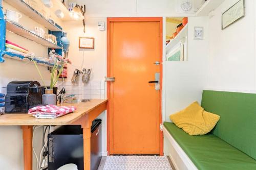
[[75, 111], [74, 106], [56, 106], [56, 105], [46, 105], [46, 106], [36, 106], [29, 109], [29, 114], [32, 114], [36, 118], [56, 118], [68, 113]]

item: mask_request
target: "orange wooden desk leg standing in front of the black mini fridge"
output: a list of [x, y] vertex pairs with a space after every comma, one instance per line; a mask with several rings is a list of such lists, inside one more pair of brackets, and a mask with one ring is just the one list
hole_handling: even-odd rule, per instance
[[91, 170], [91, 125], [88, 114], [81, 118], [83, 132], [83, 169]]

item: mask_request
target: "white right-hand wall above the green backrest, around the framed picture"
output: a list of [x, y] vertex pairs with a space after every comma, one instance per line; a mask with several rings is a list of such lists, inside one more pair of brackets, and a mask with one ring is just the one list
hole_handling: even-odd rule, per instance
[[226, 0], [209, 19], [207, 88], [256, 90], [255, 1], [245, 1], [245, 17], [221, 30], [221, 15], [237, 0]]

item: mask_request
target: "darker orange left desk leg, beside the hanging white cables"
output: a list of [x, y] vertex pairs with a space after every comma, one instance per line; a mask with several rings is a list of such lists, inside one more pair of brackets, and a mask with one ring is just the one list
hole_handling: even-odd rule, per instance
[[33, 126], [22, 126], [22, 130], [23, 130], [24, 170], [32, 170]]

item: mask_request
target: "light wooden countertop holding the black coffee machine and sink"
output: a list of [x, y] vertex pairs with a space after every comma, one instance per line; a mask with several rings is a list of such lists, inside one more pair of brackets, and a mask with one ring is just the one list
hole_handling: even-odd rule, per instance
[[67, 114], [55, 119], [51, 118], [35, 118], [30, 114], [4, 114], [0, 115], [0, 126], [35, 126], [35, 125], [70, 125], [83, 115], [96, 109], [98, 106], [108, 102], [107, 99], [92, 99], [90, 102], [78, 104], [60, 104], [60, 106], [75, 106], [77, 110], [73, 113]]

